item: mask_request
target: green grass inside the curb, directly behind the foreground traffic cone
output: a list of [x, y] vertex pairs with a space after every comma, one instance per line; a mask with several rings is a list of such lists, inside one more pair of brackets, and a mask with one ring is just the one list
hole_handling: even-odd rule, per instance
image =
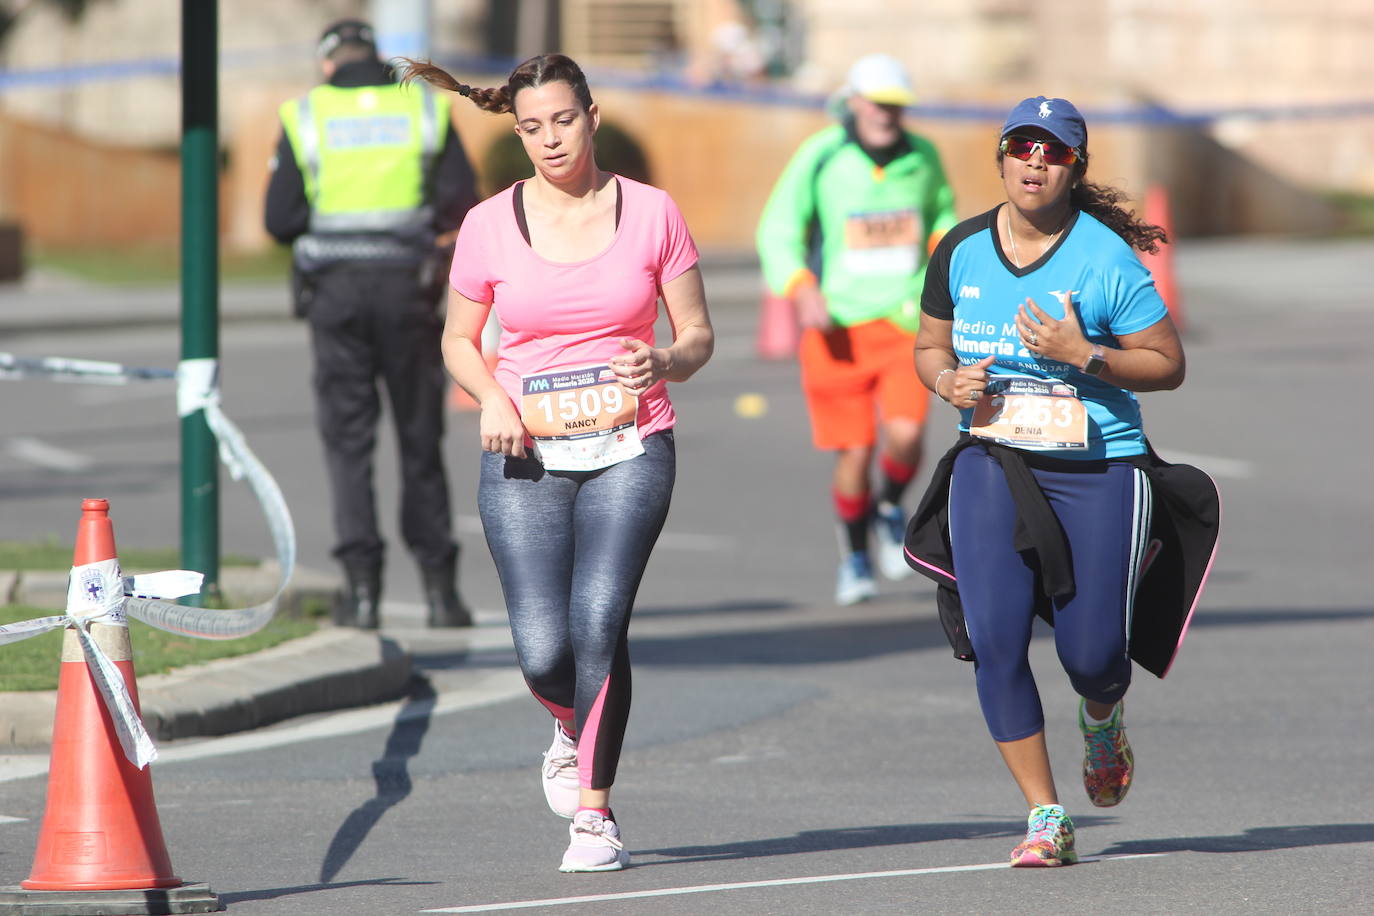
[[[187, 665], [201, 665], [217, 658], [232, 658], [258, 652], [287, 640], [313, 633], [327, 608], [306, 606], [300, 614], [278, 611], [276, 617], [257, 633], [236, 640], [198, 640], [168, 633], [142, 621], [129, 621], [129, 644], [133, 647], [133, 670], [140, 676], [162, 674]], [[19, 604], [0, 606], [0, 625], [55, 617], [51, 610]], [[0, 645], [0, 691], [52, 691], [58, 688], [62, 666], [60, 629], [18, 643]]]

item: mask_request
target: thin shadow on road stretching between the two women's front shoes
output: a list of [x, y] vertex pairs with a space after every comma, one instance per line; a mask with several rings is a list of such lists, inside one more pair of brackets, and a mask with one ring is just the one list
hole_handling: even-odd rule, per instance
[[[683, 862], [716, 862], [735, 858], [763, 858], [768, 856], [796, 856], [798, 853], [827, 853], [874, 846], [907, 846], [911, 843], [938, 843], [949, 839], [998, 839], [1025, 835], [1025, 821], [970, 821], [945, 824], [888, 824], [883, 827], [842, 827], [838, 829], [808, 829], [791, 836], [746, 839], [714, 846], [671, 846], [664, 849], [636, 849], [635, 867], [680, 865]], [[644, 862], [642, 856], [662, 856], [665, 861]]]

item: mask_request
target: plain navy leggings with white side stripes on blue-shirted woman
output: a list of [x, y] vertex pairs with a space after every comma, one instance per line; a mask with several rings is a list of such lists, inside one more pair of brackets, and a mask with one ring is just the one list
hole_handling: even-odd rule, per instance
[[[1069, 540], [1074, 593], [1054, 603], [1054, 645], [1080, 696], [1114, 703], [1131, 685], [1127, 640], [1135, 575], [1150, 530], [1150, 483], [1121, 461], [1084, 470], [1032, 468]], [[978, 703], [999, 742], [1044, 728], [1028, 651], [1035, 618], [1033, 553], [1013, 547], [1017, 509], [987, 449], [966, 448], [949, 483], [949, 538], [973, 643]]]

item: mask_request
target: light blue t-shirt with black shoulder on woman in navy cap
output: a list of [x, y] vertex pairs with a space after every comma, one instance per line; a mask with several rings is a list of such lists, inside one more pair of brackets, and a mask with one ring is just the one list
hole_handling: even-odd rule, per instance
[[[1072, 297], [1084, 336], [1118, 349], [1118, 336], [1143, 331], [1168, 314], [1154, 279], [1121, 236], [1083, 211], [1070, 217], [1044, 255], [1017, 268], [998, 243], [999, 209], [965, 220], [941, 239], [930, 258], [921, 310], [954, 321], [954, 349], [963, 365], [996, 356], [989, 376], [1059, 379], [1077, 389], [1088, 413], [1088, 448], [1048, 455], [1143, 455], [1145, 430], [1135, 394], [1076, 365], [1035, 356], [1021, 346], [1015, 317], [1029, 298], [1047, 314], [1063, 319], [1065, 299]], [[971, 416], [971, 408], [959, 412], [960, 431], [969, 431]]]

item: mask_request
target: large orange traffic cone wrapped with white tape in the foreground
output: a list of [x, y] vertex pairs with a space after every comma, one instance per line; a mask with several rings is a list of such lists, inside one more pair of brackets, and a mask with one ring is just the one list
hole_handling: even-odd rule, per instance
[[[117, 558], [109, 501], [82, 500], [71, 564], [87, 566]], [[99, 585], [92, 581], [92, 588]], [[89, 628], [91, 637], [118, 667], [137, 709], [129, 629], [100, 622], [92, 622]], [[21, 886], [30, 891], [150, 891], [82, 894], [78, 898], [87, 904], [118, 904], [118, 908], [100, 909], [111, 913], [212, 912], [205, 905], [214, 902], [217, 908], [218, 904], [203, 884], [185, 886], [172, 873], [153, 801], [151, 775], [147, 768], [140, 769], [125, 758], [110, 711], [87, 669], [73, 629], [66, 630], [62, 647], [47, 812], [38, 832], [33, 872]], [[51, 900], [51, 895], [40, 898]], [[199, 901], [199, 908], [195, 901]], [[144, 904], [146, 908], [140, 908]]]

